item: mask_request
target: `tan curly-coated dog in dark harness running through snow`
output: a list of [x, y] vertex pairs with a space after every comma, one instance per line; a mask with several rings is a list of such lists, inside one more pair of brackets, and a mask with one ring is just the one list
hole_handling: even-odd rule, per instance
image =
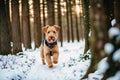
[[46, 60], [49, 68], [53, 67], [53, 63], [58, 63], [59, 49], [57, 45], [57, 38], [59, 30], [60, 27], [57, 25], [42, 27], [42, 31], [45, 33], [45, 40], [40, 46], [40, 55], [42, 64], [45, 64]]

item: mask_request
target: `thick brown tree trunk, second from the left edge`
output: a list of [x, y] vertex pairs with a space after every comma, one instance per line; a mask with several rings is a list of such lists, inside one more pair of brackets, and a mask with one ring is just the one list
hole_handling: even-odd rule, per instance
[[13, 40], [13, 54], [22, 51], [21, 34], [20, 34], [20, 15], [19, 2], [12, 0], [12, 40]]

